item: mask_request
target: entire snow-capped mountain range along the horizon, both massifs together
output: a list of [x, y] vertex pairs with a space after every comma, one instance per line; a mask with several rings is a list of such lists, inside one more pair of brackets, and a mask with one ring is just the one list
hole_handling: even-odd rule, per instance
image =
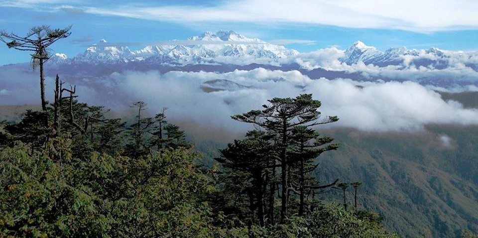
[[[426, 50], [389, 48], [385, 51], [367, 46], [357, 41], [344, 50], [335, 49], [338, 60], [345, 65], [363, 63], [378, 67], [401, 66], [407, 68], [425, 67], [446, 69], [449, 67], [470, 67], [478, 71], [478, 52], [462, 52], [430, 48]], [[88, 47], [85, 52], [73, 58], [57, 53], [50, 59], [51, 65], [65, 64], [124, 64], [142, 62], [157, 65], [198, 65], [198, 64], [234, 64], [247, 65], [259, 63], [266, 65], [284, 65], [298, 60], [313, 61], [293, 49], [274, 45], [257, 38], [247, 38], [234, 31], [207, 31], [187, 40], [173, 40], [166, 43], [148, 45], [139, 50], [131, 50], [126, 45], [110, 44], [105, 39]], [[325, 68], [318, 65], [315, 68]], [[398, 68], [400, 69], [400, 68]], [[342, 70], [341, 67], [332, 69]]]

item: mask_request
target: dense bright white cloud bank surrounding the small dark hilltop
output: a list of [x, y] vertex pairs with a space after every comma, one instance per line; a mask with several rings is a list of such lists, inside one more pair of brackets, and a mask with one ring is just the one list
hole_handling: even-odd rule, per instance
[[[208, 80], [226, 79], [249, 89], [206, 94], [200, 90]], [[413, 82], [358, 83], [339, 79], [311, 80], [298, 71], [234, 71], [230, 73], [124, 72], [111, 75], [123, 99], [135, 97], [150, 103], [152, 110], [169, 107], [173, 117], [189, 118], [209, 125], [244, 126], [231, 115], [259, 109], [273, 97], [312, 93], [322, 101], [323, 115], [337, 115], [335, 126], [369, 131], [419, 130], [428, 123], [478, 124], [478, 110], [464, 109], [455, 101]], [[357, 86], [361, 87], [357, 87]], [[131, 101], [131, 100], [130, 100]], [[127, 102], [124, 102], [127, 103]]]

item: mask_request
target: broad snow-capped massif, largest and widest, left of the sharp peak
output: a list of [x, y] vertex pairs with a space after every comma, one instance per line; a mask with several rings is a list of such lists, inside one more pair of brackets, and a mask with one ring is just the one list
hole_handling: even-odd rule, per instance
[[[171, 41], [174, 43], [174, 41]], [[127, 46], [108, 44], [101, 40], [88, 47], [70, 62], [90, 64], [144, 61], [156, 64], [199, 64], [239, 62], [240, 58], [262, 59], [274, 62], [278, 59], [295, 57], [296, 50], [273, 45], [256, 38], [247, 38], [234, 31], [207, 31], [178, 44], [150, 45], [139, 50]]]

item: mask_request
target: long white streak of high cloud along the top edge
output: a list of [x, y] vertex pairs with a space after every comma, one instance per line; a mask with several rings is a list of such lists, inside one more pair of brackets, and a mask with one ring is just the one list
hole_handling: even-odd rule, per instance
[[[150, 4], [149, 4], [150, 5]], [[282, 22], [413, 31], [478, 27], [471, 0], [234, 0], [218, 6], [87, 7], [86, 12], [160, 21]]]

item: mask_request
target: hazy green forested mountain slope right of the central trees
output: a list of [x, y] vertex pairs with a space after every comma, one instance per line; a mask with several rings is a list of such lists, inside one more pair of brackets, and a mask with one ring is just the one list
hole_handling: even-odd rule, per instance
[[[478, 231], [477, 126], [323, 134], [342, 147], [319, 158], [317, 176], [363, 182], [359, 206], [382, 215], [386, 228], [406, 237], [458, 238], [462, 230]], [[352, 203], [352, 193], [348, 199]], [[341, 202], [340, 196], [336, 201]]]

